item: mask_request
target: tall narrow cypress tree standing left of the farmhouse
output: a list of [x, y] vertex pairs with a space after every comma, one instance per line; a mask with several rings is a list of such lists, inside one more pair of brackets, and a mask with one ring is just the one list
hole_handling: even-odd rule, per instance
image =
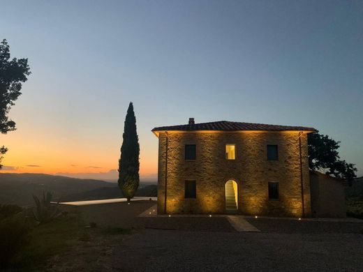
[[138, 133], [136, 132], [136, 118], [133, 112], [133, 103], [128, 105], [123, 142], [121, 146], [121, 158], [119, 159], [119, 187], [122, 194], [130, 202], [138, 190], [139, 176], [139, 154], [140, 146]]

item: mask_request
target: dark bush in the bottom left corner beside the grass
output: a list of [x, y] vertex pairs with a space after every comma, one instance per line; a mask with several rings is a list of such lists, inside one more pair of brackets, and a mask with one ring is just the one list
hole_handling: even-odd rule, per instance
[[0, 221], [0, 269], [8, 266], [13, 257], [29, 242], [29, 227], [20, 218]]

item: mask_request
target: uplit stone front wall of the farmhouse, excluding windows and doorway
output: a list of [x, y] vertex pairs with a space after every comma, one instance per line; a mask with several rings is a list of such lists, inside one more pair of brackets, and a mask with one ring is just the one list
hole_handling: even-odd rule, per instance
[[[225, 213], [225, 183], [233, 180], [237, 182], [239, 213], [302, 216], [299, 131], [169, 131], [158, 133], [158, 141], [158, 213]], [[196, 145], [195, 160], [184, 159], [185, 144]], [[235, 160], [226, 160], [225, 144], [235, 144]], [[267, 144], [279, 146], [279, 160], [267, 160]], [[304, 211], [309, 217], [306, 133], [302, 134], [302, 178]], [[184, 198], [186, 180], [196, 181], [195, 199]], [[278, 200], [269, 200], [269, 181], [279, 182]]]

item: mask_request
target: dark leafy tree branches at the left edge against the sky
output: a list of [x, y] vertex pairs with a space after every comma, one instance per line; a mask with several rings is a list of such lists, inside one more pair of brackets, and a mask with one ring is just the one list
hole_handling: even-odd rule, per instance
[[[22, 94], [22, 82], [27, 81], [27, 75], [30, 75], [28, 59], [10, 59], [10, 47], [3, 40], [0, 43], [0, 133], [15, 130], [15, 122], [8, 119], [8, 113]], [[5, 146], [0, 148], [0, 163], [6, 151]]]

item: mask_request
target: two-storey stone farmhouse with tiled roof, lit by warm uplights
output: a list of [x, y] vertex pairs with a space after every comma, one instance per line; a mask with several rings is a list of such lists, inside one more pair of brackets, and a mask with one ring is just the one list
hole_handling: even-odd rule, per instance
[[311, 195], [319, 194], [311, 194], [307, 143], [315, 128], [191, 118], [152, 132], [158, 137], [159, 214], [320, 216], [311, 209]]

